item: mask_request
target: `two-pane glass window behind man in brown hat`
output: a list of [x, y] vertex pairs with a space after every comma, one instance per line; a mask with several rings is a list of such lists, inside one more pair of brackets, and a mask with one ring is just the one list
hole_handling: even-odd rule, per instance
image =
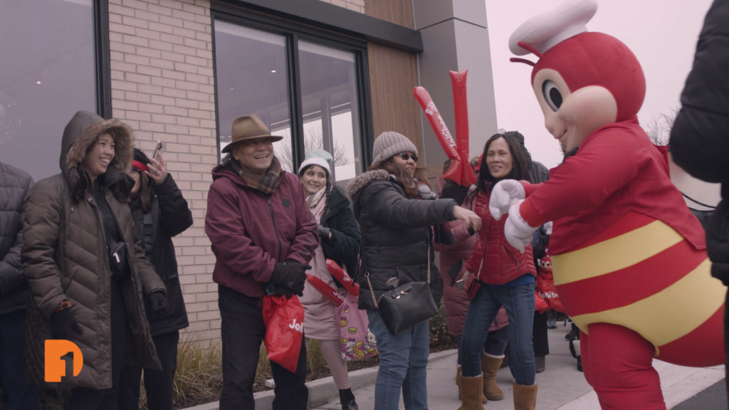
[[256, 114], [271, 134], [284, 136], [274, 150], [287, 171], [320, 149], [334, 157], [338, 185], [364, 171], [358, 77], [364, 48], [265, 24], [216, 19], [214, 25], [220, 150], [230, 144], [235, 117]]

